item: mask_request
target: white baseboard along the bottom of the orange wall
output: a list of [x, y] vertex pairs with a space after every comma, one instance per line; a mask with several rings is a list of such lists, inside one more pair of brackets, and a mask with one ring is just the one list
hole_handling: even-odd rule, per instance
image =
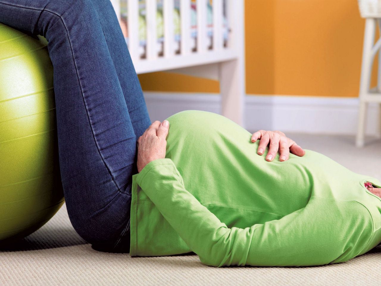
[[[221, 99], [214, 93], [144, 92], [151, 121], [197, 109], [219, 113]], [[270, 96], [245, 97], [245, 128], [295, 133], [356, 134], [359, 99], [353, 97]], [[377, 104], [369, 104], [366, 133], [376, 134]]]

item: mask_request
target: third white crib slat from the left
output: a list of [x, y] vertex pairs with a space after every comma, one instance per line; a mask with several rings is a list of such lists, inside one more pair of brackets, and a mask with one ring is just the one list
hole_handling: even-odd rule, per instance
[[146, 0], [146, 22], [147, 22], [147, 59], [157, 58], [157, 36], [156, 36], [156, 0]]

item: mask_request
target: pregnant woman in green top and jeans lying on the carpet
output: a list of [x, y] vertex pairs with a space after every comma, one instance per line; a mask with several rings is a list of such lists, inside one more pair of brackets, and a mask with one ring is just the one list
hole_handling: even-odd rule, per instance
[[0, 22], [48, 40], [67, 211], [94, 249], [299, 266], [381, 241], [377, 179], [210, 112], [151, 124], [108, 0], [0, 0]]

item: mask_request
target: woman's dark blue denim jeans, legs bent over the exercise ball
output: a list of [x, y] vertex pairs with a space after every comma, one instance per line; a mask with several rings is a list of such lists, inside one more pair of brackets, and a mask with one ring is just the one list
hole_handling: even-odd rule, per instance
[[0, 0], [0, 22], [48, 40], [73, 227], [94, 249], [129, 252], [136, 140], [151, 123], [111, 3]]

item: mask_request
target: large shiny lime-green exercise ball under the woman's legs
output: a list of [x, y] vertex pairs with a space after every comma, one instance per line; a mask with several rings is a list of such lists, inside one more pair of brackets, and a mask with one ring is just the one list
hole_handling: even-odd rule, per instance
[[0, 23], [0, 246], [42, 227], [64, 203], [46, 45]]

